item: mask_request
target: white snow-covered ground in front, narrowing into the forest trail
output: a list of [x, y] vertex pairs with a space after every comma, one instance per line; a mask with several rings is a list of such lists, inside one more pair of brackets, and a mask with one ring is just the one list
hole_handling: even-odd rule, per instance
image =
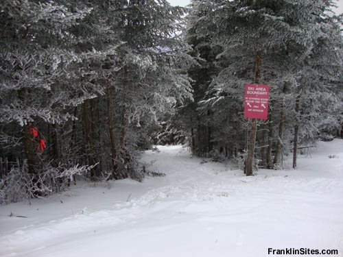
[[143, 160], [165, 177], [78, 183], [0, 206], [0, 256], [265, 257], [302, 247], [343, 256], [343, 140], [319, 143], [296, 170], [252, 177], [181, 146], [158, 149]]

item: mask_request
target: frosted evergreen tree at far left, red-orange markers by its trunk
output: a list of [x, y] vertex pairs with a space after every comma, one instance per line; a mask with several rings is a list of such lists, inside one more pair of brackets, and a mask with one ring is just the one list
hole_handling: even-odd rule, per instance
[[[72, 118], [66, 106], [89, 97], [86, 92], [73, 94], [82, 90], [62, 83], [62, 79], [73, 79], [69, 69], [80, 62], [70, 48], [74, 38], [69, 29], [89, 12], [88, 8], [71, 12], [56, 2], [4, 1], [1, 6], [2, 138], [23, 136], [29, 173], [37, 172], [35, 149], [44, 140], [39, 132], [40, 141], [33, 140], [32, 127], [38, 127], [38, 122], [55, 124]], [[38, 127], [40, 130], [43, 128]], [[1, 143], [8, 147], [10, 141]]]

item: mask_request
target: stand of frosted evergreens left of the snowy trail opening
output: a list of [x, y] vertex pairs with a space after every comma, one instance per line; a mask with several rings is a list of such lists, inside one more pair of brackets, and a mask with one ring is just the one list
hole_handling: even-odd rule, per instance
[[24, 162], [45, 193], [79, 171], [140, 180], [147, 132], [191, 97], [184, 12], [167, 1], [3, 1], [0, 157]]

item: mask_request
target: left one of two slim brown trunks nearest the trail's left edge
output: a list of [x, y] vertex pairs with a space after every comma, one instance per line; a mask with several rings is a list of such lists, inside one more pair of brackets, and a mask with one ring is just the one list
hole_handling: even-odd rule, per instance
[[110, 135], [110, 147], [111, 147], [111, 157], [113, 172], [112, 177], [114, 180], [119, 180], [119, 170], [117, 164], [117, 147], [115, 145], [115, 127], [113, 125], [113, 103], [112, 103], [112, 93], [113, 88], [108, 86], [107, 88], [107, 124], [108, 124], [108, 133]]

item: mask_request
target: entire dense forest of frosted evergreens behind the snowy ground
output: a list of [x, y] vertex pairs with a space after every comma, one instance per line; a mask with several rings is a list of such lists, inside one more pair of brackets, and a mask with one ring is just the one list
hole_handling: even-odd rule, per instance
[[[62, 191], [75, 174], [141, 181], [154, 144], [254, 169], [293, 154], [295, 168], [298, 151], [341, 134], [334, 4], [1, 1], [0, 203]], [[267, 120], [244, 119], [247, 83], [270, 85]]]

